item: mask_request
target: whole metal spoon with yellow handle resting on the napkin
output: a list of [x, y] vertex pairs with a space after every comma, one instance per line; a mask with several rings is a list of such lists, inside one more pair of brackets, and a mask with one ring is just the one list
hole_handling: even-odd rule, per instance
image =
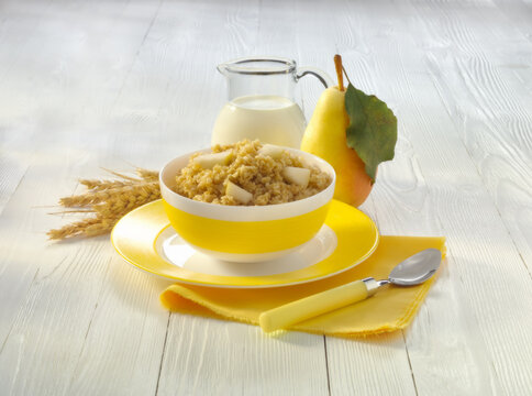
[[340, 287], [289, 302], [261, 314], [258, 322], [265, 332], [284, 329], [290, 324], [362, 301], [385, 285], [415, 286], [428, 280], [437, 271], [442, 253], [425, 249], [397, 264], [388, 279], [368, 277]]

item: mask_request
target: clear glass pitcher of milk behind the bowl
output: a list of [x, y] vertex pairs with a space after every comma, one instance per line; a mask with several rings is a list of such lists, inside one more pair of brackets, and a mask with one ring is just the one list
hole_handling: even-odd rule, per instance
[[299, 148], [307, 121], [293, 99], [296, 84], [310, 74], [325, 88], [333, 85], [324, 72], [281, 57], [240, 58], [218, 70], [228, 78], [229, 102], [214, 123], [213, 145], [258, 139]]

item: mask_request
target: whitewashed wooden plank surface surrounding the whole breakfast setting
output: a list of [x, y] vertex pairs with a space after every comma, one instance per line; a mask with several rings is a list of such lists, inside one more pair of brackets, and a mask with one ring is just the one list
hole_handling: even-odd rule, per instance
[[[166, 282], [108, 238], [54, 244], [46, 215], [100, 166], [209, 144], [215, 65], [293, 57], [396, 111], [396, 160], [363, 209], [446, 235], [413, 324], [367, 340], [266, 338], [169, 315]], [[309, 117], [320, 95], [308, 77]], [[532, 2], [0, 1], [1, 395], [532, 394]]]

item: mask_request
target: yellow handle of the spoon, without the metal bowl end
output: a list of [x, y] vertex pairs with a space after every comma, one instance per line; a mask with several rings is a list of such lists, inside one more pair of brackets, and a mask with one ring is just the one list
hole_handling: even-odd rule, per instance
[[356, 280], [270, 309], [261, 314], [258, 322], [265, 332], [270, 332], [334, 309], [362, 301], [369, 296], [368, 287], [366, 285], [368, 282], [375, 284], [375, 279], [373, 278]]

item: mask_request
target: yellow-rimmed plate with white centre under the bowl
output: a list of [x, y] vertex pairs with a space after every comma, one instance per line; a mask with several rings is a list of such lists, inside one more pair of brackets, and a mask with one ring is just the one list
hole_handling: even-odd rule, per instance
[[240, 288], [288, 286], [342, 273], [369, 257], [378, 240], [369, 217], [337, 200], [311, 242], [275, 262], [226, 263], [193, 252], [169, 228], [160, 200], [131, 211], [111, 233], [117, 252], [147, 273], [179, 283]]

